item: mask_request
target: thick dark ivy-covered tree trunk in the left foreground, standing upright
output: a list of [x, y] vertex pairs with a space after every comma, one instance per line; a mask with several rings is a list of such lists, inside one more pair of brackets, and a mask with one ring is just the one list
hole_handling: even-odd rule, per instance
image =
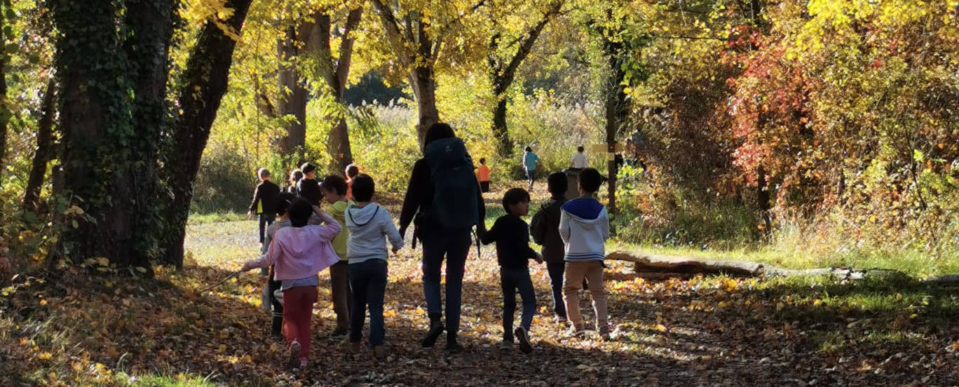
[[144, 113], [143, 106], [152, 102], [134, 94], [145, 86], [134, 85], [140, 79], [130, 70], [144, 77], [165, 72], [169, 34], [145, 29], [171, 24], [174, 8], [173, 0], [130, 1], [128, 6], [126, 17], [118, 20], [124, 14], [118, 3], [51, 1], [61, 34], [56, 54], [61, 193], [70, 194], [92, 219], [68, 228], [58, 252], [75, 262], [106, 257], [149, 267], [157, 246], [144, 226], [155, 219], [150, 214], [156, 202], [151, 190], [141, 188], [144, 179], [155, 176], [156, 154], [147, 143], [155, 142], [160, 128], [135, 124], [134, 114]]

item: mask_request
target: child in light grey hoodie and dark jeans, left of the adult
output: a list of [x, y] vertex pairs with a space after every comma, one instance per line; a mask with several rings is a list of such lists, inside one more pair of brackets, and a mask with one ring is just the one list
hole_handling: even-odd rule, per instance
[[393, 253], [403, 247], [403, 238], [393, 225], [386, 208], [372, 203], [375, 185], [373, 178], [361, 173], [353, 178], [353, 199], [356, 204], [346, 208], [346, 227], [350, 230], [346, 241], [349, 260], [350, 286], [353, 288], [353, 306], [350, 311], [350, 348], [360, 350], [366, 307], [369, 307], [369, 345], [373, 355], [385, 357], [383, 338], [383, 296], [386, 293], [386, 239]]

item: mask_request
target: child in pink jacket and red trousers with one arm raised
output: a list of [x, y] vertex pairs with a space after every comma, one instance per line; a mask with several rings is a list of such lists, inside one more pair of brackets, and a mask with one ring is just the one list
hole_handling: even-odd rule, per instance
[[[274, 278], [283, 291], [283, 335], [290, 346], [289, 364], [302, 369], [310, 355], [310, 318], [319, 285], [316, 274], [339, 262], [330, 241], [341, 226], [303, 198], [292, 202], [288, 212], [292, 227], [277, 230], [267, 254], [244, 263], [241, 270], [273, 265]], [[313, 213], [323, 219], [322, 225], [307, 224]]]

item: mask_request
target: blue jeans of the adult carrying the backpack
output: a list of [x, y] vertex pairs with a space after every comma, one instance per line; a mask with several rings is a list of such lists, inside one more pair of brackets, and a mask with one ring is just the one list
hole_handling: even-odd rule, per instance
[[446, 331], [456, 336], [462, 307], [463, 270], [473, 239], [470, 230], [423, 230], [423, 293], [431, 318], [443, 315], [439, 270], [446, 258]]

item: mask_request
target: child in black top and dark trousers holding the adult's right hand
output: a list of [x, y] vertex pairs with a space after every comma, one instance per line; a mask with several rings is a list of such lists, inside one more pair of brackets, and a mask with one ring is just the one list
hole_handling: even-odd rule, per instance
[[[506, 215], [500, 216], [493, 227], [479, 239], [484, 244], [496, 242], [496, 260], [500, 263], [500, 285], [503, 287], [503, 348], [513, 345], [513, 335], [520, 341], [520, 350], [530, 353], [529, 328], [536, 312], [536, 294], [529, 279], [529, 259], [543, 262], [539, 253], [529, 247], [529, 226], [520, 216], [529, 213], [529, 193], [514, 188], [503, 195]], [[516, 311], [516, 292], [523, 298], [523, 319], [520, 327], [513, 330], [513, 313]]]

